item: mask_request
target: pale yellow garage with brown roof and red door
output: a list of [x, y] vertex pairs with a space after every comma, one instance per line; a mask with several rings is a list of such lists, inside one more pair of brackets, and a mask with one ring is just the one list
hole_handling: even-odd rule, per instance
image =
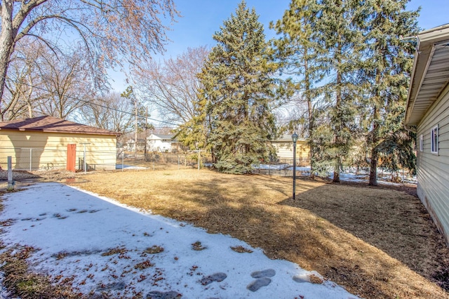
[[70, 161], [83, 169], [86, 147], [86, 169], [115, 169], [118, 135], [49, 116], [0, 122], [0, 166], [11, 156], [15, 169], [66, 168], [70, 147]]

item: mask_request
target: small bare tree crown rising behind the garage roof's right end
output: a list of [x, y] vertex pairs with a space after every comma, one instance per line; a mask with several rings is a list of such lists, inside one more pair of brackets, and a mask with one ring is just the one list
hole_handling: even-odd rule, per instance
[[81, 107], [79, 119], [83, 124], [126, 133], [133, 128], [133, 103], [120, 93], [109, 93], [89, 101]]

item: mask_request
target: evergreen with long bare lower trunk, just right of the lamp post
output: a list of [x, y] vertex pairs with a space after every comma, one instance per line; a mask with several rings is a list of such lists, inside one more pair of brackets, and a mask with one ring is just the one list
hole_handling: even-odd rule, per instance
[[[310, 175], [315, 174], [317, 150], [314, 140], [316, 112], [314, 100], [317, 96], [316, 83], [323, 79], [323, 67], [317, 59], [323, 48], [317, 43], [319, 32], [314, 30], [319, 5], [316, 0], [292, 0], [281, 20], [271, 26], [282, 36], [274, 41], [276, 58], [281, 71], [293, 75], [293, 88], [307, 102], [307, 138], [310, 146]], [[294, 119], [299, 123], [301, 119]]]

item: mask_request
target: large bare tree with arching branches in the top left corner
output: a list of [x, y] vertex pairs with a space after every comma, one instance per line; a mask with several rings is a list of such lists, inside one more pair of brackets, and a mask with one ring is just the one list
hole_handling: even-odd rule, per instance
[[55, 49], [64, 41], [48, 33], [77, 34], [101, 81], [105, 67], [121, 65], [123, 58], [133, 63], [163, 51], [168, 27], [161, 17], [173, 22], [178, 15], [173, 0], [3, 0], [0, 5], [0, 100], [11, 57], [25, 36]]

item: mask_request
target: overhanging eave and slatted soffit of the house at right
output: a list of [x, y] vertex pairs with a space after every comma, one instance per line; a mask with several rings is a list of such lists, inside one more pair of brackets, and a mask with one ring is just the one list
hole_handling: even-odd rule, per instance
[[416, 36], [418, 44], [408, 89], [406, 126], [417, 126], [449, 82], [449, 24]]

